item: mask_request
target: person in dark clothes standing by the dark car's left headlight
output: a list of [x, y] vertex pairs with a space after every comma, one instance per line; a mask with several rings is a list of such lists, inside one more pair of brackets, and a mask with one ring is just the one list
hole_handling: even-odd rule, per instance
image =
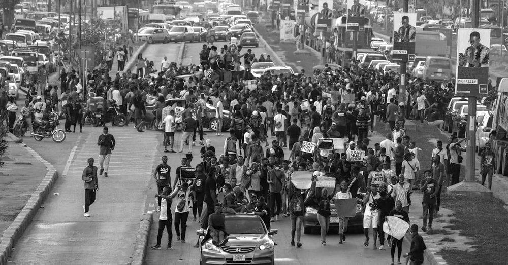
[[289, 183], [288, 196], [290, 200], [289, 215], [291, 218], [291, 245], [295, 246], [295, 232], [296, 232], [296, 247], [301, 247], [300, 242], [302, 237], [302, 224], [303, 216], [305, 215], [304, 206], [304, 193], [302, 190], [295, 187], [293, 182]]

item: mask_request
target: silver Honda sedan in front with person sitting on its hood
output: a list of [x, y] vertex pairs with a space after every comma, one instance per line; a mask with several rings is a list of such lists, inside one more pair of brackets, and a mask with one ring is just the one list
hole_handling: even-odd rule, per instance
[[200, 264], [275, 264], [275, 244], [272, 235], [258, 215], [227, 214], [225, 226], [229, 233], [225, 244], [212, 243], [208, 231], [196, 231], [199, 236]]

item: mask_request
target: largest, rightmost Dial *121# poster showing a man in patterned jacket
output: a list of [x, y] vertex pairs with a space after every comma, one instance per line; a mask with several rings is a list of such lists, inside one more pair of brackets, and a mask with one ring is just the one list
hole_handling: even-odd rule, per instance
[[489, 93], [490, 29], [460, 28], [457, 32], [457, 96]]

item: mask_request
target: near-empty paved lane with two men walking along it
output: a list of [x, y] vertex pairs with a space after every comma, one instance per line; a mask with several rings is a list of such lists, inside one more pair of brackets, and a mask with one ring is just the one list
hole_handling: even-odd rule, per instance
[[97, 137], [102, 128], [90, 130], [84, 144], [76, 149], [67, 177], [58, 179], [45, 208], [39, 210], [16, 245], [14, 263], [130, 261], [157, 140], [152, 132], [134, 133], [132, 128], [125, 127], [110, 129], [117, 146], [111, 156], [109, 177], [99, 177], [97, 200], [90, 206], [91, 217], [86, 218], [81, 174], [87, 159], [98, 157]]

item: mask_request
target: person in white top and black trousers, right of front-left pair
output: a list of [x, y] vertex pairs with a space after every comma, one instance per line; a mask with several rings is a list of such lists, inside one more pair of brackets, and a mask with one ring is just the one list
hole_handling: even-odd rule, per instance
[[[181, 188], [178, 189], [176, 195], [176, 207], [175, 207], [175, 231], [176, 240], [180, 243], [185, 243], [185, 231], [187, 228], [187, 218], [189, 216], [190, 207], [190, 188], [188, 182], [183, 182]], [[180, 228], [182, 229], [180, 234]]]

